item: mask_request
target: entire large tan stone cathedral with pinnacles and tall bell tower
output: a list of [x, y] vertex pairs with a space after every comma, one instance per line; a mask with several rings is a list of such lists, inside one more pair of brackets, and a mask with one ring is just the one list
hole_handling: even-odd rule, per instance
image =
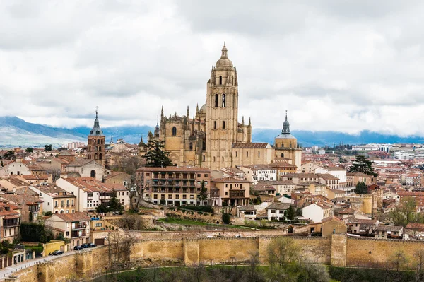
[[252, 143], [250, 119], [247, 124], [244, 117], [242, 122], [237, 120], [237, 70], [227, 52], [224, 43], [221, 57], [206, 83], [206, 104], [200, 109], [196, 107], [192, 117], [189, 107], [182, 117], [176, 112], [167, 117], [162, 108], [160, 124], [154, 133], [149, 132], [148, 139], [165, 141], [165, 150], [176, 165], [218, 170], [274, 160], [274, 149], [269, 143]]

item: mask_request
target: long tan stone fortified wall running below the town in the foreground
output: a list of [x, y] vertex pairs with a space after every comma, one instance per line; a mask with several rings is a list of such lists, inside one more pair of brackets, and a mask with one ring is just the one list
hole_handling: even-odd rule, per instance
[[[176, 264], [223, 264], [248, 262], [257, 252], [266, 263], [266, 249], [274, 237], [214, 237], [139, 240], [131, 251], [133, 266]], [[384, 264], [392, 254], [402, 251], [413, 261], [424, 242], [332, 237], [293, 237], [309, 262], [334, 266], [372, 267]], [[98, 276], [109, 266], [107, 246], [57, 257], [13, 273], [8, 281], [54, 282]], [[4, 281], [4, 280], [3, 280]]]

